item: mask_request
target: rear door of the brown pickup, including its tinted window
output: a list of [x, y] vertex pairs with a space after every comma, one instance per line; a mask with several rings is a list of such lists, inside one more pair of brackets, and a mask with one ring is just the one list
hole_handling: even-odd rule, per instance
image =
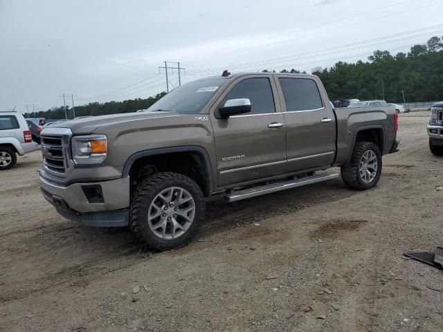
[[320, 80], [301, 75], [278, 75], [275, 79], [287, 125], [287, 172], [332, 165], [336, 121], [324, 89], [318, 87]]

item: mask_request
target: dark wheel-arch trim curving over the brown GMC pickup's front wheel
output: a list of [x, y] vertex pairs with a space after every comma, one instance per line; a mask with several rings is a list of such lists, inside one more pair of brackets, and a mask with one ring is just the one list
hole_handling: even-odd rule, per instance
[[132, 164], [136, 160], [143, 158], [143, 157], [147, 157], [147, 156], [156, 156], [159, 154], [171, 154], [174, 152], [197, 152], [201, 156], [203, 156], [204, 162], [205, 162], [205, 168], [206, 168], [205, 176], [209, 181], [209, 185], [207, 187], [205, 196], [210, 196], [210, 194], [213, 192], [213, 188], [214, 188], [213, 171], [212, 171], [208, 151], [206, 151], [206, 149], [204, 149], [203, 147], [200, 147], [199, 145], [183, 145], [181, 147], [162, 147], [159, 149], [138, 151], [126, 160], [125, 167], [123, 167], [122, 178], [129, 176], [129, 170], [131, 169]]

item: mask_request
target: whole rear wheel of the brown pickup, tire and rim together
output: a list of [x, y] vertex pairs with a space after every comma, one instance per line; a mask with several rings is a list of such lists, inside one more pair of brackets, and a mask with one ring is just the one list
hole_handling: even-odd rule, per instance
[[341, 178], [351, 189], [370, 189], [379, 182], [381, 164], [377, 145], [373, 142], [355, 142], [349, 163], [341, 167]]

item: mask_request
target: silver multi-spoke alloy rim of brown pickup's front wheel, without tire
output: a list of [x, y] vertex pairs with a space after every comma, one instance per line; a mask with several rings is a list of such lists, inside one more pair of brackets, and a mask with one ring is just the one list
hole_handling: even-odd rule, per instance
[[181, 237], [195, 216], [195, 202], [188, 190], [169, 187], [155, 196], [147, 212], [151, 231], [161, 239]]

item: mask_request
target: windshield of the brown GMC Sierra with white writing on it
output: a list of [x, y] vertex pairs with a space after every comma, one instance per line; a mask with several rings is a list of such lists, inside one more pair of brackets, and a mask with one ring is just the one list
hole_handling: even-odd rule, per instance
[[226, 79], [190, 82], [179, 86], [152, 104], [147, 111], [174, 111], [181, 114], [198, 114]]

